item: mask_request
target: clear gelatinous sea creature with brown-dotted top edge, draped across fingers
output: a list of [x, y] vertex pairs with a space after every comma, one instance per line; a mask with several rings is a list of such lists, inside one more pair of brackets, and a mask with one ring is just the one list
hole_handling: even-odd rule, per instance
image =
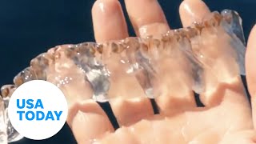
[[18, 138], [5, 109], [8, 98], [24, 82], [54, 83], [69, 106], [85, 99], [106, 102], [145, 97], [161, 101], [191, 91], [207, 95], [214, 93], [218, 82], [229, 83], [245, 74], [245, 50], [242, 20], [232, 10], [214, 12], [201, 23], [157, 38], [56, 46], [34, 58], [14, 78], [14, 85], [2, 86], [0, 122], [4, 127], [0, 127], [0, 138], [8, 135], [9, 142]]

